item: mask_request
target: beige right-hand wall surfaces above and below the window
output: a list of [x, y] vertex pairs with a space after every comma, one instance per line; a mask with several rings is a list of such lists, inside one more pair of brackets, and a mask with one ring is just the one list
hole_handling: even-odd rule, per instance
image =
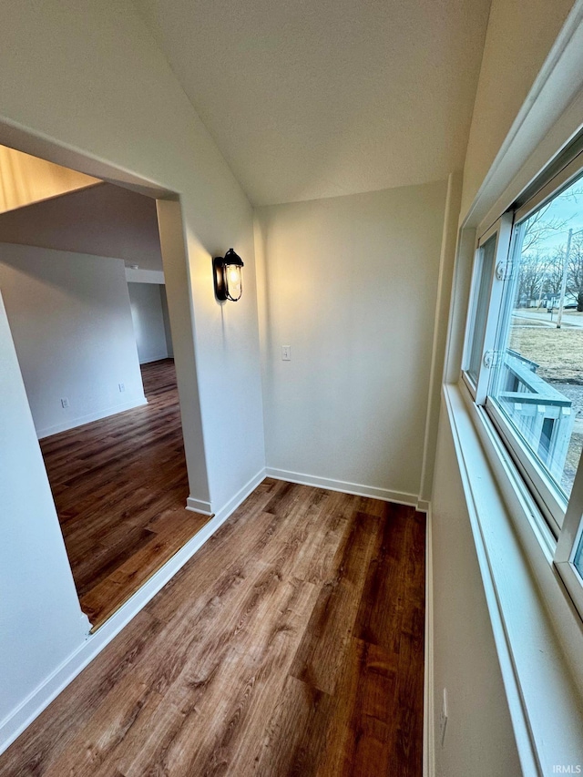
[[[471, 209], [572, 5], [572, 0], [559, 0], [550, 9], [544, 0], [493, 0], [465, 159], [460, 221]], [[464, 264], [456, 267], [450, 322], [453, 339], [445, 364], [446, 379], [454, 382], [459, 376], [462, 319], [475, 234], [466, 231], [462, 237], [458, 252]], [[452, 260], [451, 253], [448, 261]], [[434, 709], [430, 723], [434, 726], [435, 773], [438, 777], [520, 774], [476, 546], [443, 404], [432, 507]], [[444, 688], [448, 691], [449, 720], [442, 749], [438, 721]]]

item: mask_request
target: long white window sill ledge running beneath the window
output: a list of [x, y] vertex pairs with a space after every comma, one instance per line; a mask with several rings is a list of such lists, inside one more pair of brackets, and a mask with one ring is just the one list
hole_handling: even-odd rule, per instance
[[583, 771], [583, 629], [556, 540], [465, 384], [444, 399], [523, 772]]

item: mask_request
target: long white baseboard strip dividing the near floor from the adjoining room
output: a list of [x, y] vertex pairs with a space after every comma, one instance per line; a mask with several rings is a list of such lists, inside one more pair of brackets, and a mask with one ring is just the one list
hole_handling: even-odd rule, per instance
[[[181, 547], [173, 557], [152, 575], [136, 593], [115, 612], [111, 618], [101, 626], [95, 634], [88, 634], [87, 641], [75, 650], [46, 680], [34, 690], [30, 696], [18, 707], [9, 718], [0, 725], [0, 754], [8, 748], [13, 741], [29, 726], [32, 721], [48, 707], [56, 696], [65, 690], [66, 686], [75, 680], [77, 675], [87, 667], [98, 653], [118, 635], [118, 633], [138, 612], [146, 607], [148, 601], [154, 598], [170, 578], [183, 567], [187, 561], [202, 547], [227, 518], [240, 506], [240, 503], [251, 494], [265, 477], [261, 469], [257, 475], [251, 478], [249, 483], [243, 486], [229, 502], [223, 506], [209, 523], [202, 527], [195, 537]], [[196, 500], [195, 500], [196, 501]], [[208, 503], [207, 503], [208, 504]], [[189, 508], [192, 509], [192, 508]], [[198, 511], [197, 511], [198, 512]], [[83, 615], [84, 628], [87, 616]]]

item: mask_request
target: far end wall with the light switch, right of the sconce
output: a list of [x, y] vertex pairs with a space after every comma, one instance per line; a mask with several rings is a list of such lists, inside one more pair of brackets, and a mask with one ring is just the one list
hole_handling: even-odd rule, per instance
[[419, 495], [445, 195], [257, 210], [269, 468]]

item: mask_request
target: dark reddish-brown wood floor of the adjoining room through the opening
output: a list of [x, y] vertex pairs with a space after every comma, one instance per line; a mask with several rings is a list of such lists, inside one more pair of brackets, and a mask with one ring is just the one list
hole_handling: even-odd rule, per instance
[[209, 520], [184, 509], [189, 484], [174, 362], [141, 371], [147, 405], [40, 443], [94, 629]]

